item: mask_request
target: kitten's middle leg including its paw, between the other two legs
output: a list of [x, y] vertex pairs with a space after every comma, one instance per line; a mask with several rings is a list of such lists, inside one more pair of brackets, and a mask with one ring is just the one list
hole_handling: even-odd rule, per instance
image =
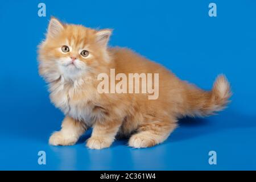
[[86, 146], [91, 149], [109, 147], [114, 142], [120, 126], [121, 120], [94, 123], [92, 136], [87, 140]]

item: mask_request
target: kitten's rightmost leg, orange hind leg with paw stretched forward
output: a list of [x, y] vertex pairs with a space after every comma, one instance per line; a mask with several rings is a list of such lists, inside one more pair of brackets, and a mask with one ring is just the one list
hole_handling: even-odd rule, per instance
[[142, 123], [138, 132], [131, 135], [129, 146], [134, 148], [155, 146], [166, 140], [176, 126], [176, 120], [170, 118]]

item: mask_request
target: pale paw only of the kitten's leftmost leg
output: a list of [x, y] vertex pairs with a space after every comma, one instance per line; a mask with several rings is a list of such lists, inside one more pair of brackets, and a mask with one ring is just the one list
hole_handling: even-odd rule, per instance
[[49, 138], [52, 146], [72, 146], [77, 142], [77, 138], [71, 135], [64, 135], [61, 131], [56, 131]]

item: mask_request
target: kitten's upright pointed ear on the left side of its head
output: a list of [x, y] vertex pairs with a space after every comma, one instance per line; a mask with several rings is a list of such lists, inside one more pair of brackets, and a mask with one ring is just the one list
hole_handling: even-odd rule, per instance
[[58, 19], [52, 17], [48, 26], [47, 38], [56, 38], [63, 29], [63, 24]]

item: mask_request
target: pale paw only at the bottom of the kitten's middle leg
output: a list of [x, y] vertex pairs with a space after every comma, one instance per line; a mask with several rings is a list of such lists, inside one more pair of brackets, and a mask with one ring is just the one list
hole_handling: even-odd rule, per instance
[[102, 149], [110, 147], [112, 144], [111, 140], [102, 137], [90, 137], [87, 140], [86, 146], [90, 149]]

